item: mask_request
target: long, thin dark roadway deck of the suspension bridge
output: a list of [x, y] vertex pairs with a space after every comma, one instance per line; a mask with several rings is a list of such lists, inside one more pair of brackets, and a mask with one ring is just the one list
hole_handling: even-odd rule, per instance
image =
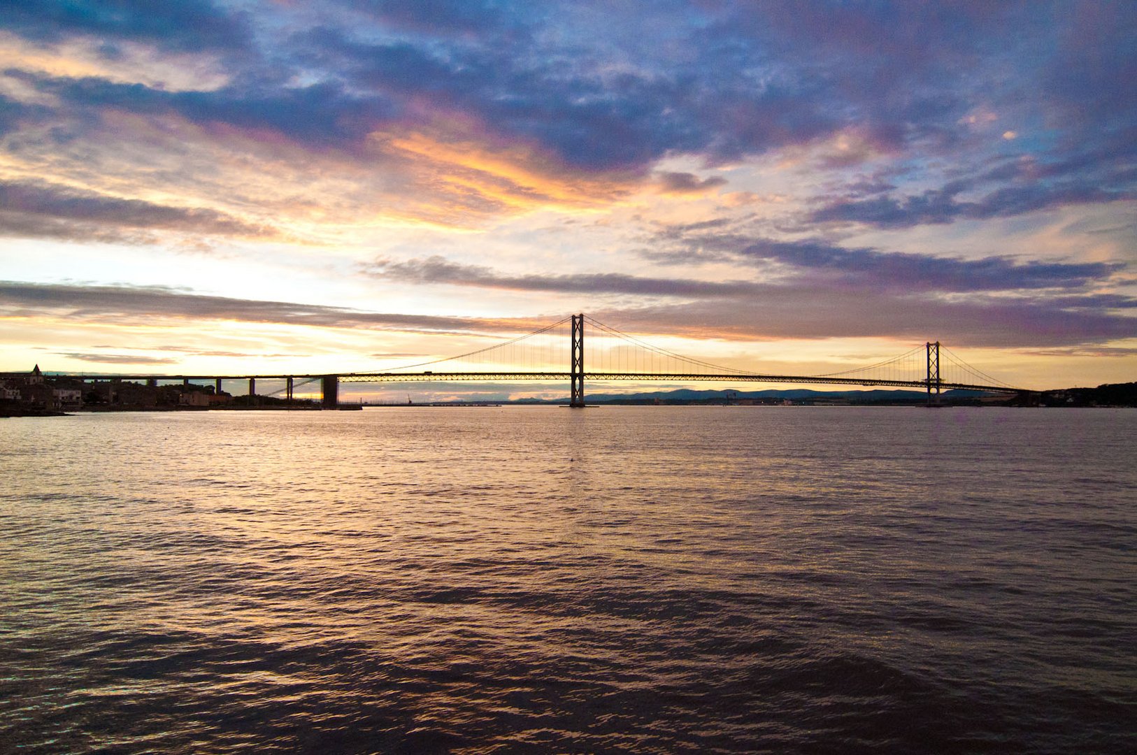
[[[398, 382], [438, 382], [438, 381], [483, 381], [483, 380], [563, 380], [568, 381], [568, 372], [350, 372], [340, 374], [284, 374], [284, 375], [96, 375], [50, 373], [45, 376], [72, 378], [84, 381], [222, 381], [222, 380], [318, 380], [335, 378], [343, 383], [398, 383]], [[698, 374], [698, 373], [642, 373], [642, 372], [584, 372], [590, 381], [642, 381], [642, 382], [746, 382], [746, 383], [802, 383], [819, 385], [861, 385], [916, 388], [928, 390], [927, 380], [891, 380], [880, 378], [825, 378], [823, 375], [766, 375], [766, 374]], [[1001, 385], [978, 385], [955, 383], [949, 381], [931, 381], [931, 388], [939, 390], [973, 390], [993, 393], [1020, 393], [1022, 389]]]

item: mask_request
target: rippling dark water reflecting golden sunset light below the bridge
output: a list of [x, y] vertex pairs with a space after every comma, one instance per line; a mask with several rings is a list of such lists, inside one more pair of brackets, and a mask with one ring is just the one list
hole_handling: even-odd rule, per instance
[[0, 421], [0, 749], [1137, 752], [1134, 410]]

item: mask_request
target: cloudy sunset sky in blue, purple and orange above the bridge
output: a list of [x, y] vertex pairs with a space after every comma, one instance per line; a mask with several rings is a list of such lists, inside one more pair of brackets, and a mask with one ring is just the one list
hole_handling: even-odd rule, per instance
[[1135, 82], [1129, 0], [0, 0], [0, 371], [1137, 380]]

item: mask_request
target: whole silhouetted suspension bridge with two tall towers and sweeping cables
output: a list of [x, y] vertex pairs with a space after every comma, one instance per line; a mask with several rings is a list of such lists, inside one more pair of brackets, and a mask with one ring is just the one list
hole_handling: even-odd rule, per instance
[[[588, 358], [586, 359], [586, 346]], [[568, 370], [564, 370], [567, 365]], [[428, 370], [428, 367], [430, 367]], [[559, 368], [558, 368], [559, 367]], [[583, 314], [570, 315], [531, 333], [453, 357], [402, 365], [376, 372], [338, 374], [265, 375], [126, 375], [52, 373], [88, 381], [134, 381], [157, 385], [159, 381], [184, 384], [214, 382], [217, 393], [224, 381], [248, 381], [256, 397], [257, 381], [283, 383], [264, 396], [292, 400], [298, 390], [318, 383], [325, 408], [339, 406], [341, 383], [405, 383], [421, 381], [567, 381], [568, 406], [584, 406], [584, 381], [764, 382], [827, 385], [894, 387], [923, 390], [931, 403], [944, 390], [1026, 393], [968, 365], [940, 342], [926, 342], [904, 354], [862, 367], [816, 375], [748, 372], [677, 354], [605, 325]]]

